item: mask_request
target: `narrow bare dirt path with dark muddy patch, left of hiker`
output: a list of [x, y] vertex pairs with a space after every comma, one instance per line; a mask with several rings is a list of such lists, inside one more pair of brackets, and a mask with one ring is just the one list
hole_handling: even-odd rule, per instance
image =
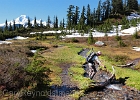
[[78, 90], [77, 85], [73, 83], [68, 75], [68, 69], [72, 64], [62, 63], [60, 68], [62, 68], [62, 74], [60, 75], [62, 84], [60, 86], [52, 86], [52, 92], [48, 100], [74, 100], [69, 95], [73, 91]]

